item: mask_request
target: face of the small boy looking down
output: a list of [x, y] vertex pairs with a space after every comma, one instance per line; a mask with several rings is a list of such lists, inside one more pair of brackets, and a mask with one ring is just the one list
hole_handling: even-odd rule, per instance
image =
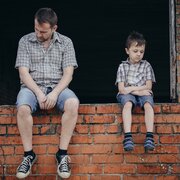
[[138, 63], [144, 56], [145, 45], [137, 46], [137, 42], [131, 44], [130, 48], [125, 48], [131, 63]]

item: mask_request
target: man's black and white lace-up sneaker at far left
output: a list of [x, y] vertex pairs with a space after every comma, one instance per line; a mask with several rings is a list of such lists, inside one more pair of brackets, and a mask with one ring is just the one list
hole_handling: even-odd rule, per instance
[[30, 174], [31, 167], [36, 162], [36, 160], [36, 155], [34, 157], [31, 155], [24, 157], [22, 163], [17, 168], [16, 177], [18, 179], [23, 179], [27, 177]]

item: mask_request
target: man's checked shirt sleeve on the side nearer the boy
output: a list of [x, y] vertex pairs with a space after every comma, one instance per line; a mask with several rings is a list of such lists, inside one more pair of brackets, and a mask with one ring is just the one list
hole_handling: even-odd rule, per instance
[[69, 38], [68, 38], [68, 41], [64, 50], [64, 54], [63, 54], [62, 68], [64, 69], [68, 66], [74, 66], [74, 68], [78, 67], [74, 46], [71, 39]]

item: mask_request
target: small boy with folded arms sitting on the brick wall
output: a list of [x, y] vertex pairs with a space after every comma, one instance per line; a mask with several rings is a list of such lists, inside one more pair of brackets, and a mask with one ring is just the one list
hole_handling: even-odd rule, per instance
[[153, 69], [149, 62], [143, 60], [146, 40], [138, 32], [132, 32], [127, 40], [125, 51], [128, 55], [118, 68], [116, 84], [118, 84], [117, 101], [123, 106], [122, 118], [125, 137], [123, 146], [125, 151], [134, 149], [131, 134], [132, 108], [140, 106], [145, 111], [146, 139], [145, 151], [154, 150], [153, 126], [153, 92], [152, 83], [155, 82]]

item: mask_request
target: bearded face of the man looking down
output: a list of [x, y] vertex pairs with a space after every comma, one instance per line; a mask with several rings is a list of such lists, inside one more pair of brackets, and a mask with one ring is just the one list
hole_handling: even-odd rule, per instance
[[35, 19], [34, 29], [39, 42], [45, 42], [51, 39], [53, 32], [57, 26], [51, 27], [49, 23], [39, 24]]

